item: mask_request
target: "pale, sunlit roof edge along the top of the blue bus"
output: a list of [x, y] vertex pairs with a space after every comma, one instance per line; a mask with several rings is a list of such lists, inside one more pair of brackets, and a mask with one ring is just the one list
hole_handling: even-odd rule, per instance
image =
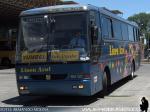
[[123, 21], [130, 25], [138, 27], [135, 22], [130, 22], [126, 19], [123, 19], [116, 14], [112, 13], [111, 10], [106, 9], [105, 7], [98, 8], [93, 5], [81, 5], [81, 4], [73, 4], [73, 5], [56, 5], [56, 6], [48, 6], [41, 8], [34, 8], [26, 11], [22, 11], [20, 16], [28, 16], [28, 15], [37, 15], [37, 14], [48, 14], [48, 13], [57, 13], [57, 12], [75, 12], [75, 11], [87, 11], [87, 10], [99, 10], [100, 13], [112, 17], [114, 19]]

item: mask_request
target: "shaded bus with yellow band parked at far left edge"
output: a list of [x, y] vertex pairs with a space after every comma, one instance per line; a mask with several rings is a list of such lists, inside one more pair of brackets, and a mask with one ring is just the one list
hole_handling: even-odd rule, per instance
[[8, 67], [15, 64], [17, 29], [2, 32], [6, 35], [0, 36], [0, 64]]

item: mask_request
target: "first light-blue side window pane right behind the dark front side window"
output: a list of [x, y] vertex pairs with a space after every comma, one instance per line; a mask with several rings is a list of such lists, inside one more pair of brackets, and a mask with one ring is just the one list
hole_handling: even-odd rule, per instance
[[121, 23], [119, 21], [116, 20], [113, 21], [113, 31], [114, 31], [114, 37], [116, 39], [122, 40]]

